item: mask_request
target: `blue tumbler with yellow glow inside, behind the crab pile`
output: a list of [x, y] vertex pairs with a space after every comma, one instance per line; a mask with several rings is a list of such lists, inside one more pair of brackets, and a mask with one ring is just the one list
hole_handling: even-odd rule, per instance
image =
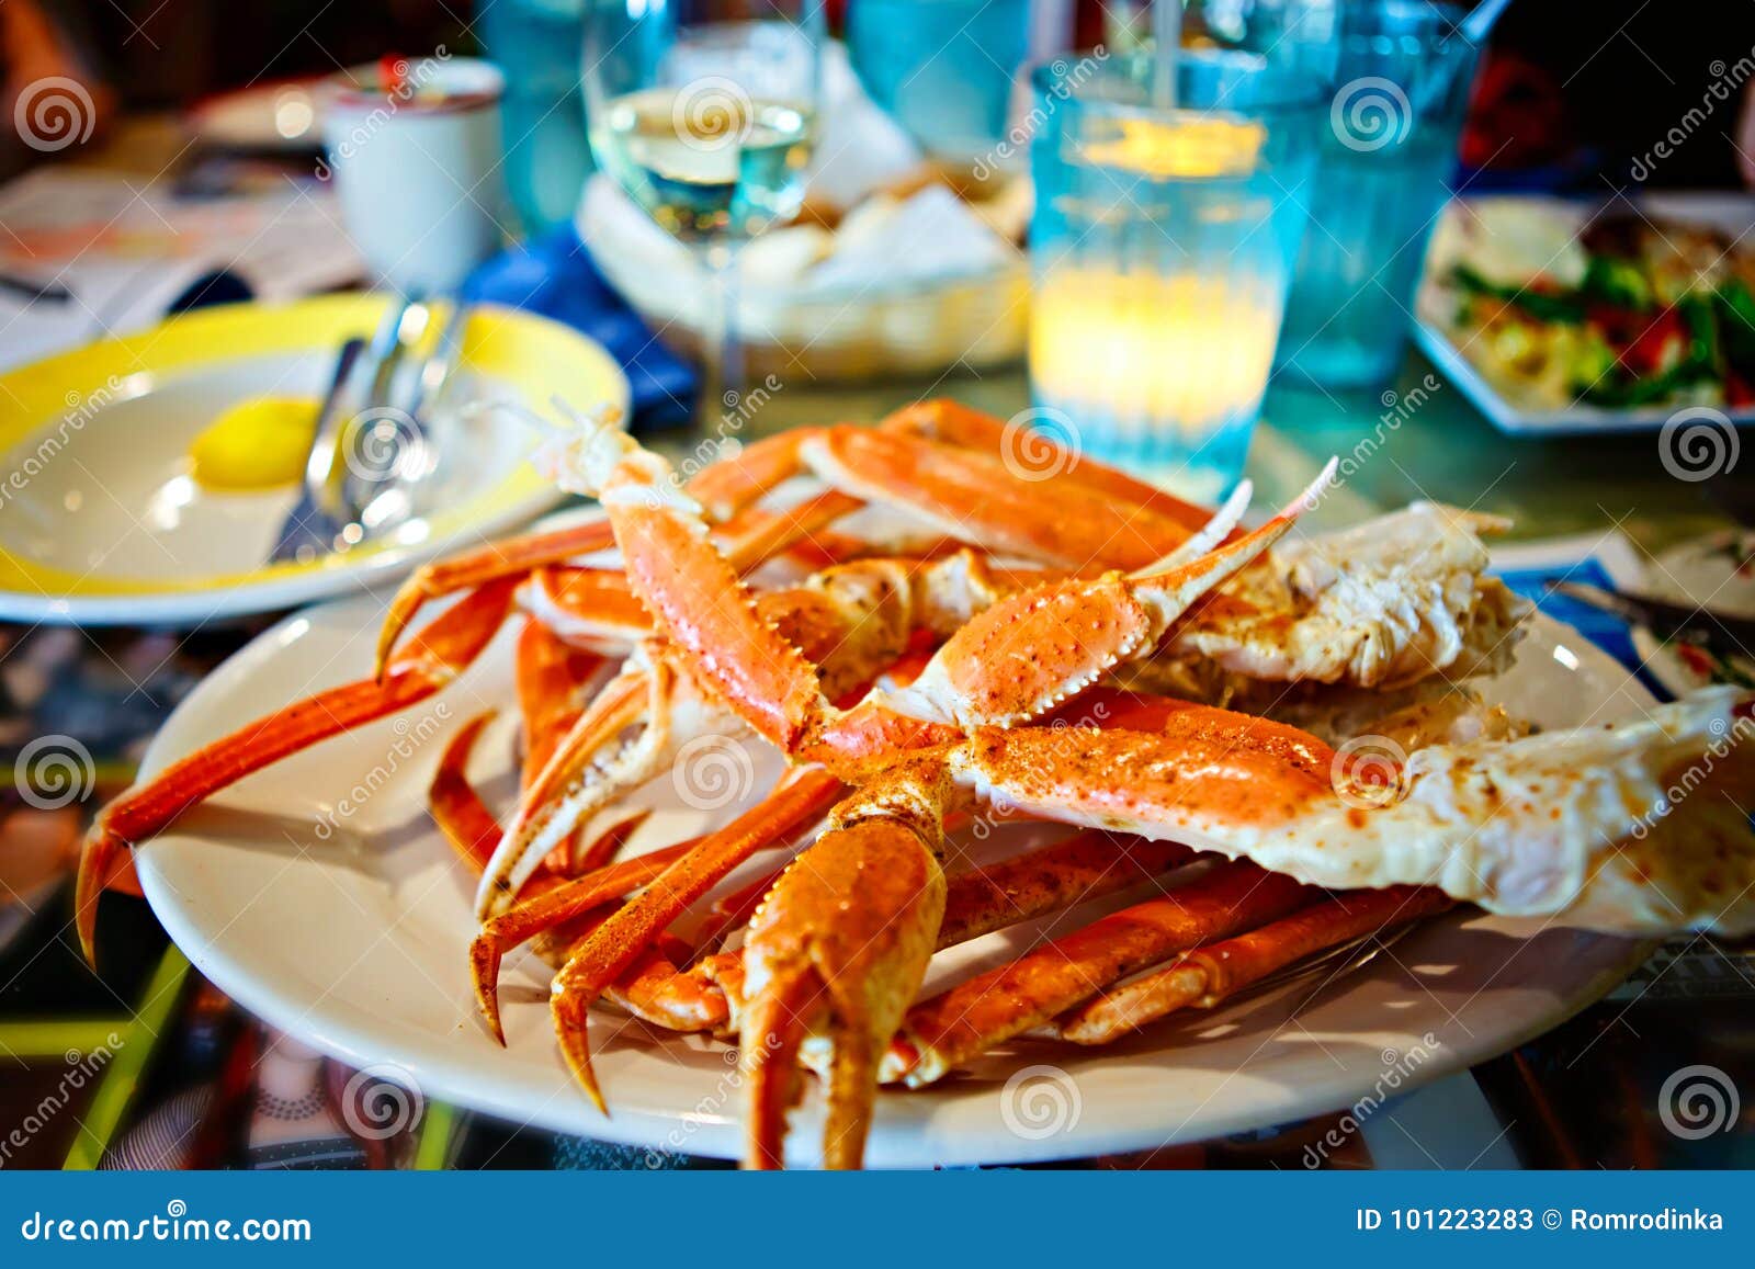
[[1030, 84], [1035, 423], [1216, 498], [1267, 386], [1327, 84], [1195, 51], [1178, 60], [1176, 109], [1095, 58]]

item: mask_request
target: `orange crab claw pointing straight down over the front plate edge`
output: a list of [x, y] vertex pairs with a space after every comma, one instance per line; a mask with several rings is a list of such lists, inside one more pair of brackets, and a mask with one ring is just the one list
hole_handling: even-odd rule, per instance
[[774, 883], [744, 944], [748, 1167], [783, 1165], [799, 1055], [820, 1043], [827, 1053], [814, 1057], [828, 1076], [823, 1165], [860, 1165], [878, 1060], [920, 990], [942, 916], [944, 871], [900, 820], [834, 828]]

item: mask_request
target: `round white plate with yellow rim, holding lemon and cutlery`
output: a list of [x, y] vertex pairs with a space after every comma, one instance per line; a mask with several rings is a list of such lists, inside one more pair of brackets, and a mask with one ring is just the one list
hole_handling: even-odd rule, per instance
[[[0, 376], [0, 620], [198, 625], [393, 581], [530, 520], [558, 498], [528, 463], [535, 434], [504, 412], [444, 427], [432, 511], [383, 542], [265, 565], [295, 484], [219, 491], [190, 446], [221, 412], [323, 395], [335, 349], [369, 335], [383, 295], [237, 304], [172, 318]], [[449, 409], [469, 400], [627, 409], [628, 381], [584, 335], [479, 305]]]

